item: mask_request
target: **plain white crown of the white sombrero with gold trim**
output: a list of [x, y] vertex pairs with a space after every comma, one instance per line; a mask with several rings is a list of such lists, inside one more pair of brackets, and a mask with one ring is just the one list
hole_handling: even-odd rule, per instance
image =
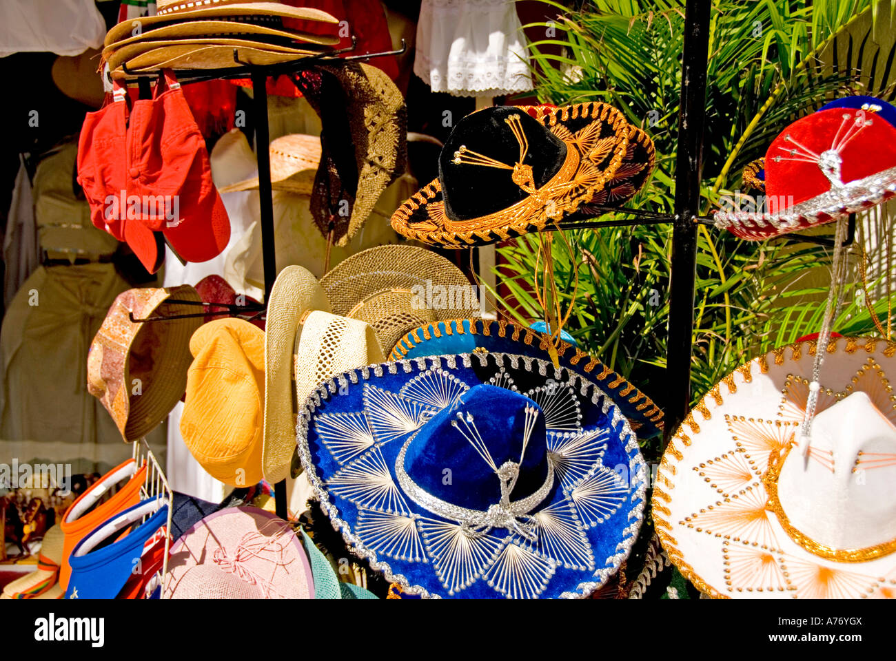
[[[790, 526], [831, 549], [896, 539], [896, 427], [865, 392], [815, 416], [804, 459], [790, 451], [778, 498]], [[811, 550], [811, 549], [810, 549]]]

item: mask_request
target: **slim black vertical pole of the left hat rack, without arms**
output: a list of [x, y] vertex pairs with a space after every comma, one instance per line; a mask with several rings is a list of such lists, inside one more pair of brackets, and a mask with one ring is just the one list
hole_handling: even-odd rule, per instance
[[[277, 279], [277, 251], [274, 245], [274, 202], [271, 191], [271, 142], [268, 132], [268, 74], [263, 69], [252, 72], [252, 100], [255, 122], [255, 149], [258, 151], [258, 204], [262, 222], [262, 257], [264, 264], [264, 305]], [[280, 519], [287, 518], [286, 480], [274, 485], [274, 507]]]

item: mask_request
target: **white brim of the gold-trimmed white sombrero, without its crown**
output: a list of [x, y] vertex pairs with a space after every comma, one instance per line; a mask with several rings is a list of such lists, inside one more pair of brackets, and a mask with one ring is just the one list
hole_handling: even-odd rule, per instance
[[[769, 499], [769, 457], [796, 442], [818, 349], [816, 340], [798, 342], [741, 365], [668, 442], [654, 483], [654, 525], [671, 561], [711, 597], [870, 597], [896, 590], [896, 554], [863, 559], [845, 550], [834, 552], [843, 556], [838, 560], [810, 551]], [[831, 339], [816, 411], [862, 391], [896, 422], [894, 356], [892, 342]]]

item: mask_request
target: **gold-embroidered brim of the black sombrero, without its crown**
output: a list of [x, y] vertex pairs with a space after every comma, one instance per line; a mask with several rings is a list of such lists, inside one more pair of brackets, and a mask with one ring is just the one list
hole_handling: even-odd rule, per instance
[[[542, 189], [542, 194], [530, 195], [487, 216], [459, 221], [446, 214], [442, 182], [436, 178], [395, 210], [392, 228], [402, 236], [429, 245], [446, 248], [487, 245], [540, 232], [595, 199], [601, 203], [624, 202], [646, 182], [653, 167], [653, 143], [641, 129], [628, 124], [615, 107], [589, 101], [547, 111], [541, 107], [520, 109], [531, 110], [530, 114], [538, 112], [538, 121], [566, 144], [564, 165], [555, 175], [555, 181]], [[605, 193], [605, 189], [613, 185], [624, 161], [623, 172], [640, 184], [616, 182], [619, 190], [613, 195], [616, 199], [611, 201], [610, 192]], [[542, 199], [545, 195], [550, 204]]]

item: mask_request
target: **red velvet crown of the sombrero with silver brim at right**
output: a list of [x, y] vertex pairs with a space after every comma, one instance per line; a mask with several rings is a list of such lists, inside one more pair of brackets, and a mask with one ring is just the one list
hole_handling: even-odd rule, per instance
[[[844, 108], [820, 110], [790, 124], [771, 142], [765, 155], [765, 194], [771, 213], [831, 190], [831, 182], [816, 163], [791, 160], [798, 159], [802, 151], [796, 143], [817, 154], [830, 150], [838, 132], [841, 139], [861, 112]], [[844, 118], [844, 115], [849, 117]], [[896, 128], [871, 113], [862, 116], [871, 119], [872, 124], [860, 129], [840, 147], [840, 181], [844, 184], [896, 167]], [[792, 156], [790, 150], [794, 149], [797, 154]]]

